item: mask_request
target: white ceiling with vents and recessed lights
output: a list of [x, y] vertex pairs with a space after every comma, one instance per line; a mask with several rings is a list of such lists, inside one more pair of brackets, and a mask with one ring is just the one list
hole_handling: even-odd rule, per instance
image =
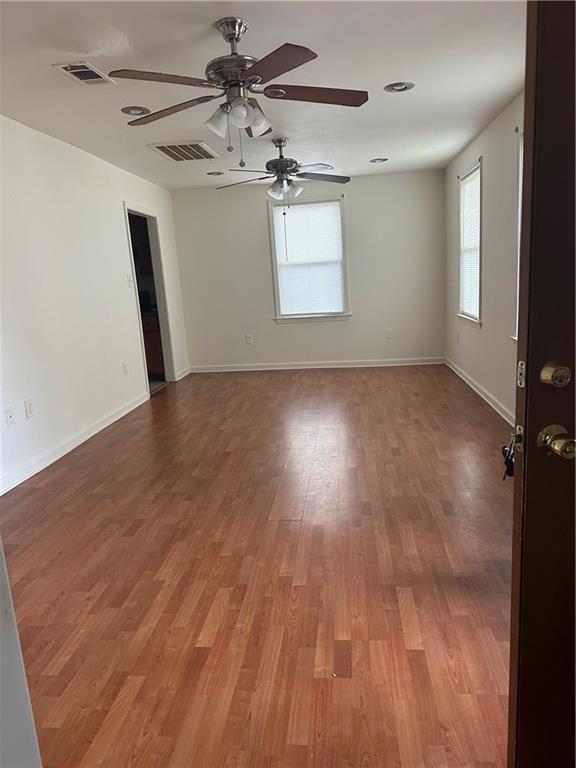
[[[360, 88], [359, 108], [278, 102], [260, 97], [274, 133], [245, 141], [249, 168], [275, 156], [271, 136], [290, 139], [301, 163], [327, 162], [363, 175], [442, 168], [516, 94], [524, 77], [524, 2], [11, 2], [2, 3], [1, 111], [168, 188], [216, 186], [238, 162], [204, 125], [204, 104], [142, 127], [128, 127], [127, 104], [157, 110], [209, 93], [159, 83], [80, 84], [51, 65], [90, 61], [204, 76], [209, 59], [228, 52], [214, 22], [249, 23], [240, 51], [262, 58], [284, 42], [318, 58], [277, 82]], [[416, 88], [382, 88], [412, 80]], [[148, 146], [205, 140], [212, 161], [174, 163]], [[385, 165], [368, 162], [389, 157]], [[248, 177], [247, 177], [248, 178]], [[224, 181], [223, 181], [224, 180]]]

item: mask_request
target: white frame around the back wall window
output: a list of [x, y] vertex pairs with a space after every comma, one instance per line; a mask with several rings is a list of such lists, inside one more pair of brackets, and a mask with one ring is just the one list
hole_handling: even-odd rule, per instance
[[270, 254], [272, 258], [272, 282], [274, 287], [274, 320], [277, 323], [306, 323], [328, 320], [346, 320], [352, 316], [350, 312], [350, 292], [348, 286], [348, 259], [346, 247], [346, 226], [344, 195], [338, 197], [307, 197], [305, 200], [293, 200], [290, 207], [297, 205], [314, 205], [316, 203], [338, 203], [340, 206], [340, 227], [342, 230], [342, 312], [315, 312], [300, 315], [283, 315], [280, 310], [280, 288], [278, 276], [278, 260], [276, 254], [276, 238], [274, 232], [274, 209], [283, 208], [286, 203], [281, 200], [268, 200], [268, 228], [270, 235]]

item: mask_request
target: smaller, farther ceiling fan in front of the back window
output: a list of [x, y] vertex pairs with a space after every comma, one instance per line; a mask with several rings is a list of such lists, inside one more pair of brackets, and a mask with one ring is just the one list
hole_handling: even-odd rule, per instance
[[350, 176], [336, 176], [329, 173], [318, 173], [317, 171], [331, 171], [332, 165], [327, 163], [311, 163], [309, 165], [300, 165], [297, 160], [291, 157], [284, 157], [284, 147], [288, 139], [272, 139], [272, 143], [278, 149], [278, 157], [268, 160], [265, 171], [239, 171], [238, 168], [230, 168], [231, 171], [238, 173], [265, 173], [265, 176], [259, 176], [256, 179], [246, 179], [246, 181], [237, 181], [234, 184], [225, 184], [217, 189], [228, 189], [228, 187], [237, 187], [240, 184], [249, 184], [251, 181], [264, 181], [276, 177], [276, 181], [266, 190], [270, 197], [276, 200], [286, 200], [290, 196], [298, 197], [304, 187], [291, 176], [297, 179], [310, 179], [311, 181], [333, 181], [336, 184], [348, 184]]

